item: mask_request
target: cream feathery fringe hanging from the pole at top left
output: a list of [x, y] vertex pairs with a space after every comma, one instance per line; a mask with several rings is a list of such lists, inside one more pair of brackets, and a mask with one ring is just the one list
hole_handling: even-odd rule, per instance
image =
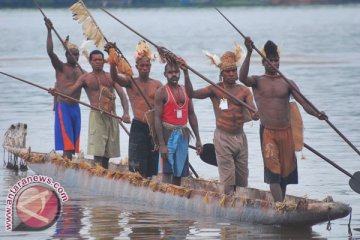
[[83, 1], [78, 1], [70, 7], [73, 19], [82, 24], [83, 34], [87, 40], [93, 40], [97, 48], [103, 48], [105, 37], [91, 16]]

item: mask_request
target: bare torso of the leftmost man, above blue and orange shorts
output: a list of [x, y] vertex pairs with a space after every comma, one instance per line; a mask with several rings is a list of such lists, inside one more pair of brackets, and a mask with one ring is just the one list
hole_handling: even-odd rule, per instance
[[[64, 64], [62, 71], [59, 71], [59, 70], [56, 71], [55, 88], [59, 92], [64, 93], [64, 92], [66, 92], [66, 90], [68, 88], [70, 88], [72, 85], [74, 85], [74, 83], [77, 81], [77, 79], [81, 75], [82, 75], [82, 71], [80, 70], [79, 67], [77, 67], [77, 66], [72, 67], [69, 64]], [[77, 100], [80, 100], [80, 96], [81, 96], [81, 88], [70, 95], [70, 97], [75, 98]], [[57, 100], [71, 103], [71, 100], [69, 100], [68, 98], [61, 97], [61, 96], [58, 96]]]

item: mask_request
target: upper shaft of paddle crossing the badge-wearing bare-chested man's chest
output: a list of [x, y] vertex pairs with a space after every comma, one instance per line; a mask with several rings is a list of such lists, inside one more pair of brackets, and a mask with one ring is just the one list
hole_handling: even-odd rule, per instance
[[[151, 45], [153, 45], [160, 54], [164, 54], [165, 56], [168, 56], [170, 58], [177, 58], [177, 56], [172, 53], [171, 51], [169, 51], [168, 49], [164, 48], [164, 47], [160, 47], [157, 44], [155, 44], [154, 42], [150, 41], [150, 39], [146, 38], [145, 36], [143, 36], [142, 34], [138, 33], [137, 31], [135, 31], [133, 28], [131, 28], [130, 26], [128, 26], [127, 24], [125, 24], [123, 21], [121, 21], [120, 19], [118, 19], [117, 17], [115, 17], [113, 14], [111, 14], [110, 12], [108, 12], [107, 10], [105, 10], [104, 8], [101, 8], [101, 10], [103, 10], [105, 13], [107, 13], [109, 16], [111, 16], [112, 18], [114, 18], [116, 21], [118, 21], [119, 23], [121, 23], [123, 26], [125, 26], [127, 29], [129, 29], [130, 31], [134, 32], [136, 35], [140, 36], [141, 38], [143, 38], [145, 41], [147, 41], [148, 43], [150, 43]], [[226, 94], [227, 96], [229, 96], [234, 102], [236, 102], [237, 104], [240, 104], [246, 108], [248, 108], [250, 111], [252, 112], [257, 112], [257, 110], [253, 107], [251, 107], [250, 105], [246, 104], [245, 102], [237, 99], [233, 94], [231, 94], [229, 91], [225, 90], [224, 88], [218, 86], [217, 84], [215, 84], [214, 82], [212, 82], [211, 80], [209, 80], [208, 78], [206, 78], [204, 75], [202, 75], [201, 73], [199, 73], [198, 71], [196, 71], [195, 69], [193, 69], [190, 66], [187, 66], [187, 68], [192, 71], [194, 74], [196, 74], [197, 76], [199, 76], [200, 78], [202, 78], [203, 80], [205, 80], [206, 82], [208, 82], [209, 84], [213, 85], [215, 88], [217, 88], [219, 91], [221, 91], [222, 93]]]

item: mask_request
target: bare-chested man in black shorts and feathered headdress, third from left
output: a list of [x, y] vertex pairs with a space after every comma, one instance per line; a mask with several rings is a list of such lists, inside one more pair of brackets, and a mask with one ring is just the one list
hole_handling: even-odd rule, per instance
[[[154, 60], [154, 55], [150, 46], [144, 40], [137, 44], [135, 61], [139, 76], [134, 78], [134, 83], [130, 79], [131, 76], [122, 73], [118, 74], [118, 70], [121, 71], [121, 69], [117, 69], [117, 63], [121, 60], [118, 59], [114, 46], [108, 44], [106, 48], [110, 55], [111, 77], [115, 82], [126, 88], [134, 113], [129, 136], [129, 171], [139, 172], [143, 177], [157, 175], [159, 151], [154, 146], [152, 134], [146, 120], [147, 114], [155, 105], [155, 92], [162, 86], [160, 81], [149, 77], [151, 61]], [[140, 88], [141, 93], [135, 84]]]

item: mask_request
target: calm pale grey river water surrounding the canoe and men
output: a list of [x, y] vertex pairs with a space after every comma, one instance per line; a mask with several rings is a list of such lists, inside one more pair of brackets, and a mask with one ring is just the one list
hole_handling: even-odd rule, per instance
[[[303, 94], [357, 147], [360, 148], [360, 5], [306, 7], [224, 8], [223, 13], [260, 49], [271, 39], [281, 48], [282, 73], [293, 79]], [[214, 9], [111, 9], [115, 16], [153, 42], [183, 56], [189, 66], [213, 81], [218, 69], [202, 53], [221, 55], [234, 43], [243, 45], [241, 36]], [[58, 33], [76, 44], [83, 40], [81, 27], [67, 9], [44, 9]], [[92, 13], [110, 41], [134, 63], [134, 48], [139, 37], [115, 22], [104, 12]], [[54, 84], [54, 71], [46, 54], [46, 28], [37, 10], [0, 10], [0, 71], [46, 88]], [[55, 52], [64, 59], [61, 44], [54, 36]], [[89, 50], [93, 47], [90, 46]], [[87, 70], [85, 59], [80, 64]], [[165, 83], [163, 65], [153, 63], [152, 77]], [[108, 67], [106, 66], [108, 69]], [[263, 73], [260, 58], [253, 54], [250, 74]], [[191, 74], [195, 88], [207, 83]], [[52, 96], [46, 91], [0, 75], [0, 141], [6, 129], [17, 122], [28, 124], [27, 145], [33, 151], [53, 148]], [[81, 100], [88, 102], [83, 92]], [[210, 100], [194, 100], [203, 143], [212, 142], [214, 114]], [[120, 105], [120, 104], [118, 104]], [[121, 108], [117, 111], [121, 114]], [[360, 170], [360, 157], [325, 122], [303, 112], [305, 141], [345, 170]], [[89, 109], [81, 107], [81, 149], [86, 152]], [[127, 126], [129, 128], [129, 126]], [[263, 164], [258, 137], [258, 122], [246, 124], [249, 141], [249, 186], [268, 189], [263, 183]], [[128, 137], [121, 130], [121, 154], [127, 156]], [[203, 163], [190, 150], [191, 164], [206, 179], [217, 179], [215, 167]], [[1, 155], [3, 151], [1, 152]], [[304, 158], [303, 160], [301, 160]], [[307, 150], [298, 154], [299, 184], [288, 193], [309, 198], [350, 204], [351, 230], [360, 238], [359, 195], [348, 185], [349, 177]], [[119, 159], [115, 159], [118, 161]], [[31, 174], [29, 172], [28, 174]], [[284, 229], [239, 223], [218, 218], [198, 218], [191, 213], [172, 212], [135, 205], [127, 199], [113, 199], [96, 192], [64, 186], [70, 200], [65, 202], [57, 224], [40, 232], [5, 232], [4, 208], [8, 189], [26, 173], [19, 175], [0, 168], [1, 239], [347, 239], [349, 217], [311, 229]], [[94, 186], [93, 186], [94, 187]], [[96, 187], [96, 186], [95, 186]]]

